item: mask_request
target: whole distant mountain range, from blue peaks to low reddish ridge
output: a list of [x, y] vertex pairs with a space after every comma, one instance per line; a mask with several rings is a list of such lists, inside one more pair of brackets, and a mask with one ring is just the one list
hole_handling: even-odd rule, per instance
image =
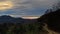
[[3, 15], [0, 16], [0, 24], [1, 23], [34, 23], [37, 22], [36, 19], [23, 19], [23, 18], [15, 18], [15, 17], [11, 17], [9, 15]]

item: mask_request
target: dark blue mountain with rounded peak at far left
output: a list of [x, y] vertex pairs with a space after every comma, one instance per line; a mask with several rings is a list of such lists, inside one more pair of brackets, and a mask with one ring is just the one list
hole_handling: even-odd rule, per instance
[[9, 15], [0, 16], [0, 23], [20, 23], [23, 22], [23, 18], [14, 18]]

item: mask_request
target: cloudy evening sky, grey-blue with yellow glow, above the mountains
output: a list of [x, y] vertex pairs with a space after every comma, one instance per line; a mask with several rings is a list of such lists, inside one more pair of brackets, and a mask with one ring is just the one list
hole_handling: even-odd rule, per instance
[[0, 0], [0, 15], [41, 16], [59, 0]]

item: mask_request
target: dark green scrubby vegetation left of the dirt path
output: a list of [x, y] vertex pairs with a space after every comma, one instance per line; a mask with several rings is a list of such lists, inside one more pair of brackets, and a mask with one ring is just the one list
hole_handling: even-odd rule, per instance
[[0, 25], [1, 34], [42, 34], [39, 23], [31, 24], [2, 24]]

